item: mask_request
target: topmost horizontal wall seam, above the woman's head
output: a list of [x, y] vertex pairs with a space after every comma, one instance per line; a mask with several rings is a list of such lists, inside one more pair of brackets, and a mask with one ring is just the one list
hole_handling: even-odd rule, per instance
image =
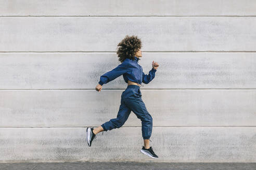
[[11, 16], [0, 16], [2, 18], [4, 17], [256, 17], [255, 15], [193, 15], [193, 16], [178, 16], [178, 15], [135, 15], [135, 16], [130, 16], [130, 15], [11, 15]]

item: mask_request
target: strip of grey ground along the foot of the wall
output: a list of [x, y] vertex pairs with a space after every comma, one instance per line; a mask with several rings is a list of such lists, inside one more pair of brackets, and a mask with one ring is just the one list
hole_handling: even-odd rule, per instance
[[255, 170], [256, 163], [155, 163], [155, 162], [70, 162], [70, 163], [0, 163], [1, 170], [86, 170], [86, 169], [242, 169]]

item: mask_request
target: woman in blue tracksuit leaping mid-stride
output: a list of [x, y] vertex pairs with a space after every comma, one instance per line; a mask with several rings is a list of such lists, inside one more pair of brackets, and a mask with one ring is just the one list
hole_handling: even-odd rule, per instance
[[[142, 66], [138, 64], [139, 58], [142, 57], [142, 42], [137, 36], [125, 36], [125, 38], [118, 44], [117, 51], [119, 61], [122, 63], [111, 71], [100, 76], [100, 81], [96, 86], [98, 92], [101, 91], [103, 84], [108, 83], [123, 75], [127, 88], [122, 92], [121, 105], [119, 107], [117, 118], [110, 119], [98, 126], [97, 128], [87, 127], [87, 143], [92, 145], [95, 135], [99, 132], [108, 131], [121, 127], [129, 117], [131, 111], [142, 121], [142, 136], [144, 139], [144, 146], [140, 150], [142, 153], [151, 158], [158, 158], [153, 152], [152, 147], [149, 147], [149, 138], [152, 133], [152, 117], [147, 111], [144, 102], [142, 101], [142, 93], [140, 93], [141, 83], [149, 83], [155, 78], [155, 73], [158, 68], [158, 63], [152, 62], [152, 69], [148, 75], [145, 75]], [[150, 140], [151, 141], [151, 140]]]

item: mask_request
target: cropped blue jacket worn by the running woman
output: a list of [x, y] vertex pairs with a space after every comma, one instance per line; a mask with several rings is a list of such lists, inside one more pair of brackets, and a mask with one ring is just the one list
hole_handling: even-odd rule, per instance
[[143, 72], [142, 66], [138, 64], [138, 58], [135, 56], [136, 60], [131, 60], [126, 58], [123, 63], [119, 64], [116, 68], [100, 76], [99, 84], [108, 83], [116, 79], [117, 77], [123, 75], [124, 81], [127, 83], [128, 80], [136, 82], [138, 84], [149, 83], [153, 78], [155, 78], [156, 69], [152, 67], [148, 75]]

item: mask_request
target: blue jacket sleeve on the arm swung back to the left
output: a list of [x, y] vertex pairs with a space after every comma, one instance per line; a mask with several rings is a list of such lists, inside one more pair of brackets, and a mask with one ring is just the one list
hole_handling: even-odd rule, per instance
[[100, 76], [99, 84], [103, 86], [103, 84], [108, 83], [109, 81], [112, 81], [116, 79], [117, 77], [123, 75], [127, 72], [127, 64], [121, 63], [116, 68], [112, 69], [111, 71], [105, 73], [104, 75]]

